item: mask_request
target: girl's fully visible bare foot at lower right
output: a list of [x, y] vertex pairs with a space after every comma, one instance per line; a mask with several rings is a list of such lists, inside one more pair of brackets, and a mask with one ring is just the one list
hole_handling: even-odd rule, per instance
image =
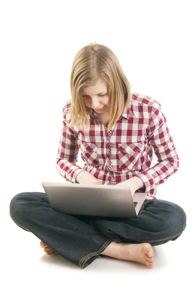
[[120, 259], [136, 261], [152, 269], [154, 267], [154, 250], [152, 245], [145, 243], [119, 243], [122, 245], [117, 256]]

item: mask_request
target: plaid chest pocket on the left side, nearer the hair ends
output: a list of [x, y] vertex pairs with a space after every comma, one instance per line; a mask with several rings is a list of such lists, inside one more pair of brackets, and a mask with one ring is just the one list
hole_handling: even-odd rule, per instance
[[78, 147], [81, 150], [81, 157], [84, 162], [92, 166], [98, 166], [99, 161], [97, 158], [97, 144], [96, 143], [86, 143], [78, 142]]

